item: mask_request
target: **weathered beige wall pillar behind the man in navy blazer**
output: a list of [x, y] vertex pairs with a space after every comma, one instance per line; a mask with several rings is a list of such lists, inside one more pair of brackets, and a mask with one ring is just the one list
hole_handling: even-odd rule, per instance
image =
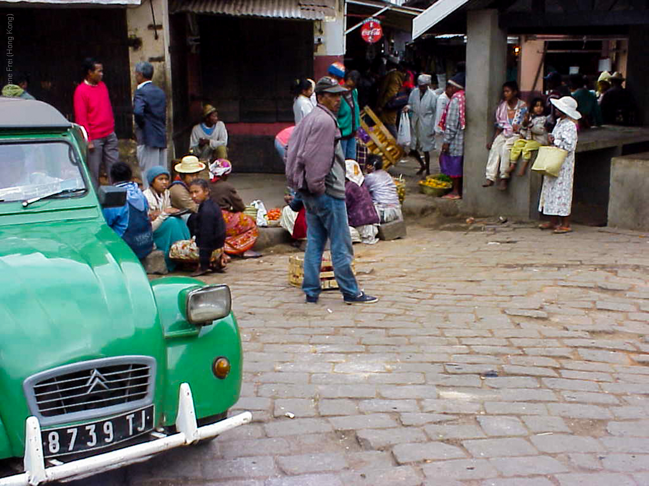
[[[135, 65], [138, 62], [150, 62], [153, 65], [153, 82], [164, 89], [167, 95], [167, 151], [173, 157], [173, 139], [171, 138], [173, 117], [171, 91], [171, 57], [169, 54], [169, 3], [167, 0], [153, 0], [126, 10], [129, 39], [137, 41], [136, 46], [129, 47], [131, 95], [138, 86], [135, 80]], [[155, 17], [156, 29], [153, 29]], [[151, 26], [151, 28], [150, 28]], [[156, 38], [157, 36], [157, 38]]]

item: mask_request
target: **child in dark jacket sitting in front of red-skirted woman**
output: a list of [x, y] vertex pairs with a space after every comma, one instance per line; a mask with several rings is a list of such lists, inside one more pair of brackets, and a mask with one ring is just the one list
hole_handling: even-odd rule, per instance
[[[190, 183], [193, 202], [199, 205], [197, 213], [191, 214], [187, 222], [192, 236], [196, 237], [199, 248], [199, 268], [192, 277], [210, 272], [210, 259], [215, 249], [223, 248], [225, 243], [225, 221], [221, 208], [210, 199], [210, 186], [204, 179], [194, 179]], [[225, 267], [225, 254], [222, 252], [217, 262], [218, 268]]]

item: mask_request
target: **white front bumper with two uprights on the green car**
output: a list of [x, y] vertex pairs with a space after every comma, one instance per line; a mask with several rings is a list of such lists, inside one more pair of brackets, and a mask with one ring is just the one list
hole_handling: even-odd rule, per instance
[[226, 430], [247, 424], [252, 420], [249, 411], [234, 417], [202, 427], [197, 426], [194, 401], [189, 384], [180, 385], [178, 392], [178, 415], [176, 429], [178, 434], [167, 435], [150, 442], [113, 450], [99, 456], [86, 457], [62, 465], [45, 467], [40, 424], [36, 417], [29, 417], [25, 428], [25, 472], [0, 478], [0, 486], [35, 486], [49, 481], [70, 481], [91, 476], [98, 472], [116, 469], [147, 459], [175, 447], [189, 445], [200, 439], [210, 439]]

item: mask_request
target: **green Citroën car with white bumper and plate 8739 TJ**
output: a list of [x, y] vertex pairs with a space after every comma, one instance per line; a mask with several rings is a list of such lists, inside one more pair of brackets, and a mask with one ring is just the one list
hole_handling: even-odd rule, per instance
[[251, 420], [225, 418], [241, 389], [230, 289], [150, 283], [101, 212], [125, 194], [95, 192], [86, 147], [52, 106], [0, 98], [0, 462], [24, 457], [0, 486], [82, 478]]

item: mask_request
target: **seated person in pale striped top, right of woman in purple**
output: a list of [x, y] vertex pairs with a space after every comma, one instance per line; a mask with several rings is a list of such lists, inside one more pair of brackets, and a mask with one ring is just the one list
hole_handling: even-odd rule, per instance
[[383, 169], [383, 157], [371, 154], [365, 164], [365, 187], [372, 196], [376, 213], [382, 223], [402, 220], [397, 185], [392, 176]]

